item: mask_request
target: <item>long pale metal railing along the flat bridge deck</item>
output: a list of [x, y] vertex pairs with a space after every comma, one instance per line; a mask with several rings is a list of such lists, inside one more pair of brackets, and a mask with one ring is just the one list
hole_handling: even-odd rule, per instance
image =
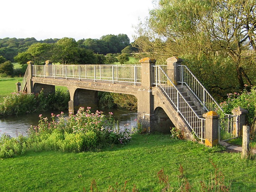
[[34, 65], [33, 76], [141, 84], [140, 65]]

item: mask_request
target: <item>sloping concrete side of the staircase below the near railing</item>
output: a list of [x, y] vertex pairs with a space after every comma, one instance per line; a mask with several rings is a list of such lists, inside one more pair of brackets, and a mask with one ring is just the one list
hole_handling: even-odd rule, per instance
[[177, 109], [159, 87], [152, 87], [152, 95], [154, 96], [154, 109], [157, 107], [163, 108], [166, 115], [170, 118], [176, 128], [182, 130], [184, 137], [187, 140], [194, 140], [192, 130], [189, 128], [186, 121], [177, 112]]

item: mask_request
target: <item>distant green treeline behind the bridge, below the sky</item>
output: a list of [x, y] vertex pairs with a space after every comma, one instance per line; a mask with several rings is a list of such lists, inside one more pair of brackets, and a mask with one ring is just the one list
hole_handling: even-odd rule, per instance
[[[18, 62], [22, 65], [29, 60], [36, 64], [44, 64], [45, 60], [61, 64], [124, 63], [128, 57], [125, 53], [134, 51], [136, 49], [132, 48], [126, 34], [105, 35], [100, 39], [81, 39], [77, 42], [68, 37], [40, 41], [33, 37], [0, 39], [1, 61]], [[123, 55], [119, 56], [118, 53]]]

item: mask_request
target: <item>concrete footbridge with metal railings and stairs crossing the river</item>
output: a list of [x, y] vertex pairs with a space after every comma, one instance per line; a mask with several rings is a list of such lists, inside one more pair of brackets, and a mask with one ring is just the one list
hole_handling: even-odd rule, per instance
[[[176, 57], [167, 59], [167, 65], [156, 65], [150, 58], [141, 59], [140, 65], [52, 65], [48, 60], [38, 66], [29, 61], [20, 87], [28, 93], [44, 89], [48, 94], [55, 85], [66, 86], [72, 111], [96, 107], [98, 91], [131, 94], [137, 98], [138, 122], [146, 131], [166, 133], [176, 127], [187, 139], [196, 135], [206, 145], [216, 145], [221, 140], [216, 112], [223, 110], [181, 62]], [[236, 137], [237, 121], [231, 125], [229, 132]]]

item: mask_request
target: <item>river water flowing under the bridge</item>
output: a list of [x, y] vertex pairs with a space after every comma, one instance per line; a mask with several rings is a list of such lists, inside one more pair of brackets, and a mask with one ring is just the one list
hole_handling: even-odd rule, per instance
[[[119, 121], [119, 127], [121, 129], [131, 129], [137, 124], [137, 112], [129, 112], [125, 109], [116, 108], [104, 108], [98, 110], [104, 111], [105, 115], [108, 115], [108, 112], [112, 112], [114, 119]], [[0, 117], [0, 136], [4, 133], [9, 134], [11, 137], [16, 137], [17, 134], [28, 135], [28, 128], [31, 125], [38, 125], [38, 121], [40, 120], [38, 116], [39, 114], [42, 114], [43, 117], [48, 117], [50, 121], [51, 113], [60, 114], [60, 112], [61, 111], [46, 111], [42, 113], [24, 114], [19, 116]], [[63, 112], [68, 114], [68, 111]]]

